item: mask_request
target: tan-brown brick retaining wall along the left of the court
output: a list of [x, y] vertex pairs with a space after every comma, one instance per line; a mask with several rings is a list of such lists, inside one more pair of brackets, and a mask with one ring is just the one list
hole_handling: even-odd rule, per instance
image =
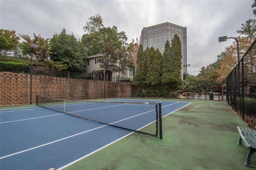
[[[70, 79], [33, 75], [32, 103], [36, 95], [62, 99], [101, 99], [110, 97], [131, 97], [132, 83]], [[30, 75], [0, 72], [0, 105], [30, 103]]]

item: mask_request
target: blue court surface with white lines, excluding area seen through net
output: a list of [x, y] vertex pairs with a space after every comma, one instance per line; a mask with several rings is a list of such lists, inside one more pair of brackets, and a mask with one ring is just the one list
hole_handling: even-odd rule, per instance
[[[130, 99], [113, 101], [159, 102]], [[161, 104], [162, 117], [165, 117], [190, 103], [161, 101]], [[111, 106], [112, 110], [115, 110], [115, 107], [118, 106]], [[97, 108], [88, 109], [88, 112], [95, 109]], [[130, 130], [43, 107], [2, 109], [0, 110], [0, 169], [62, 169], [131, 133], [133, 132]], [[156, 140], [160, 139], [156, 138]]]

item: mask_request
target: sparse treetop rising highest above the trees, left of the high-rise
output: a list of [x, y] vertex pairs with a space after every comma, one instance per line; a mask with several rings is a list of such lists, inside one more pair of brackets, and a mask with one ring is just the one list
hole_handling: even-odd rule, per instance
[[87, 34], [91, 34], [97, 31], [100, 31], [100, 28], [103, 28], [103, 19], [100, 16], [100, 14], [97, 14], [95, 16], [91, 16], [88, 18], [90, 21], [86, 22], [86, 26], [84, 26], [84, 31]]

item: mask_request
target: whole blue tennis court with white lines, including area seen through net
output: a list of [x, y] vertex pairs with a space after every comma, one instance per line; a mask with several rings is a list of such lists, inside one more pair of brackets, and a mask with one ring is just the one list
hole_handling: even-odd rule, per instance
[[[108, 100], [111, 103], [107, 105], [64, 102], [66, 107], [50, 106], [59, 111], [46, 109], [46, 105], [0, 111], [0, 169], [63, 168], [133, 131], [158, 136], [155, 124], [158, 107], [150, 103], [160, 101], [115, 99]], [[189, 104], [161, 101], [162, 117]], [[88, 113], [98, 117], [94, 120]], [[106, 113], [104, 117], [109, 119], [103, 119], [99, 113]]]

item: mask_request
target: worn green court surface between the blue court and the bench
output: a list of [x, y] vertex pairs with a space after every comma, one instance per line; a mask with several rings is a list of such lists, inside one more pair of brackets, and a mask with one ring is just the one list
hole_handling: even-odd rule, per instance
[[[250, 170], [236, 126], [247, 127], [225, 101], [191, 102], [163, 118], [163, 139], [132, 133], [65, 170]], [[256, 154], [252, 165], [256, 168]]]

